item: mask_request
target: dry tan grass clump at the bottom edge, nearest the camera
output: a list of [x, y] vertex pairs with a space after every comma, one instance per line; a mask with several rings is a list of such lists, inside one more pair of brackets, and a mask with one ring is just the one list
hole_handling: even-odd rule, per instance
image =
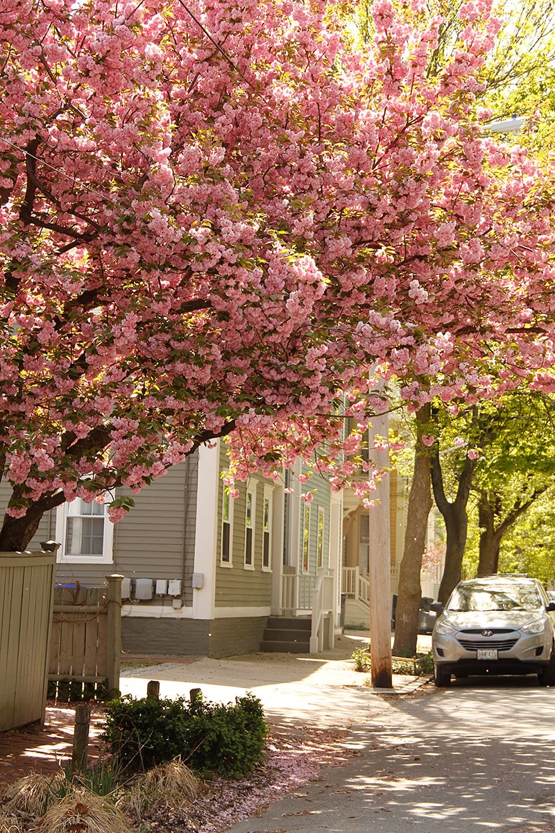
[[131, 833], [121, 813], [102, 796], [76, 791], [52, 805], [39, 833]]

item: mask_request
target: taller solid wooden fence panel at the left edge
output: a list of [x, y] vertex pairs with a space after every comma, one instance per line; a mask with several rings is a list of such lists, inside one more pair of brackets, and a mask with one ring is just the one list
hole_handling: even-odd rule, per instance
[[55, 552], [0, 552], [0, 731], [44, 721]]

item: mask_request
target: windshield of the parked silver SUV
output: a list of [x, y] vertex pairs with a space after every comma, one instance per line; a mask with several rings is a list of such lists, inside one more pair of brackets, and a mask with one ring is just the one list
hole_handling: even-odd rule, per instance
[[488, 586], [462, 584], [448, 601], [448, 611], [533, 611], [542, 600], [533, 584], [513, 583]]

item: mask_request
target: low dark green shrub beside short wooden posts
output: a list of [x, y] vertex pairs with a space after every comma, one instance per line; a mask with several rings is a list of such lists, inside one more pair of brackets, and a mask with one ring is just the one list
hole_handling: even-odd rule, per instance
[[200, 774], [237, 778], [260, 762], [268, 727], [260, 700], [251, 693], [235, 703], [134, 700], [108, 704], [102, 740], [126, 770], [148, 770], [181, 756]]

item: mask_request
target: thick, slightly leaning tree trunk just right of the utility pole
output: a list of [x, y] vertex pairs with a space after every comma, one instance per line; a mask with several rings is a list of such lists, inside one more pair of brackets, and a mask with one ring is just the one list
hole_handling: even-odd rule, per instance
[[399, 586], [395, 609], [395, 656], [414, 656], [419, 632], [419, 608], [422, 589], [420, 570], [426, 546], [429, 511], [432, 508], [429, 454], [420, 441], [429, 423], [429, 405], [416, 414], [417, 440], [414, 451], [414, 474], [410, 486], [407, 527], [404, 534], [403, 560], [399, 566]]

